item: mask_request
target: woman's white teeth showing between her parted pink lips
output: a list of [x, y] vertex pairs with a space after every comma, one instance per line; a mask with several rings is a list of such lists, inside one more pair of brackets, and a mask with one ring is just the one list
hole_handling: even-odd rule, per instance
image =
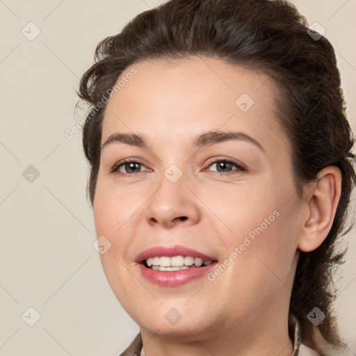
[[192, 256], [175, 256], [175, 257], [149, 257], [146, 259], [146, 264], [154, 270], [185, 270], [188, 266], [200, 267], [209, 266], [213, 260], [203, 261], [199, 257]]

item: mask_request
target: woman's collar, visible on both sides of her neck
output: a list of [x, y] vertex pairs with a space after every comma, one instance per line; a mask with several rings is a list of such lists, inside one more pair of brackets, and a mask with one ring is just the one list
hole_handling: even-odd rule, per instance
[[[294, 346], [291, 356], [319, 356], [316, 351], [308, 348], [304, 343], [301, 343], [299, 323], [296, 323], [294, 331]], [[140, 333], [137, 334], [130, 346], [124, 350], [120, 356], [145, 356], [145, 350], [143, 349], [143, 342]]]

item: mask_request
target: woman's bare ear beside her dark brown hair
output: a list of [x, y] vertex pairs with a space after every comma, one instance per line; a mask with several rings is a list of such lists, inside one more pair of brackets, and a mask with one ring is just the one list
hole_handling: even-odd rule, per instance
[[298, 248], [310, 252], [318, 248], [330, 232], [341, 195], [341, 171], [330, 165], [316, 175], [307, 193], [306, 218]]

